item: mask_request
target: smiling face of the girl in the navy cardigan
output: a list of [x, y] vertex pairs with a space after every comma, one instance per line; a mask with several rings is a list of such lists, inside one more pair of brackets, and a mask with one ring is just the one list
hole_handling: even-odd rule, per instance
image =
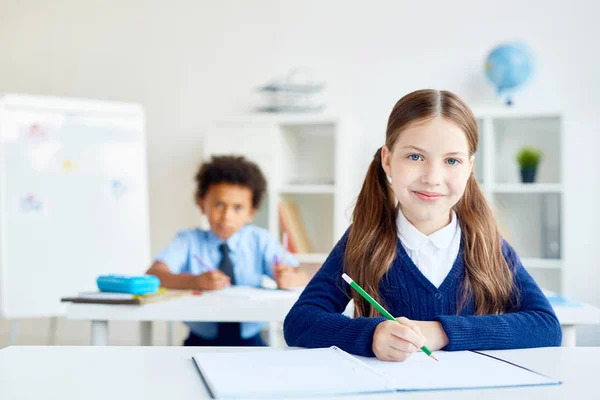
[[465, 191], [473, 157], [465, 133], [445, 118], [416, 122], [383, 146], [382, 166], [406, 218], [423, 234], [450, 223], [450, 210]]

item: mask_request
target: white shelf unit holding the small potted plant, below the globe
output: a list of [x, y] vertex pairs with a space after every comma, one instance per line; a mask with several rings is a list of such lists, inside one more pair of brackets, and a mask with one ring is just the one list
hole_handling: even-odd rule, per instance
[[[561, 292], [565, 159], [560, 112], [474, 109], [480, 133], [476, 178], [490, 201], [502, 235], [538, 283]], [[535, 183], [521, 183], [516, 160], [524, 146], [541, 150]]]

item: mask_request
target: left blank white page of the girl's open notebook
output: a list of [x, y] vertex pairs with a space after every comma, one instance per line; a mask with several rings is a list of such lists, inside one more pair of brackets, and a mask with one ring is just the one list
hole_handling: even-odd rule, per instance
[[198, 353], [215, 398], [280, 398], [388, 391], [386, 380], [331, 348]]

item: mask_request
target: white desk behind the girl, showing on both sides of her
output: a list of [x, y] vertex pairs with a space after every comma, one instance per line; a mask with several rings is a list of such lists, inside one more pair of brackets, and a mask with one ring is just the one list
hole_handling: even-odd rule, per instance
[[[207, 292], [202, 296], [185, 297], [144, 306], [104, 304], [70, 304], [68, 319], [92, 321], [92, 345], [108, 345], [108, 321], [139, 321], [142, 345], [152, 344], [152, 321], [214, 321], [269, 322], [269, 342], [280, 345], [277, 323], [298, 299], [298, 292], [273, 291], [271, 300], [248, 299]], [[575, 346], [577, 325], [600, 324], [600, 309], [584, 304], [581, 307], [554, 306], [563, 330], [563, 346]]]

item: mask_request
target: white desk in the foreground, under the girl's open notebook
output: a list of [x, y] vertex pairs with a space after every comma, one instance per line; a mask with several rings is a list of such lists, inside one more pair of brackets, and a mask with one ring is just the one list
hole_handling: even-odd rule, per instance
[[[208, 392], [191, 357], [197, 352], [226, 350], [198, 347], [7, 347], [0, 350], [0, 399], [208, 399]], [[264, 348], [248, 348], [248, 351], [264, 351]], [[343, 396], [339, 399], [597, 398], [600, 347], [488, 353], [559, 379], [563, 384]]]

